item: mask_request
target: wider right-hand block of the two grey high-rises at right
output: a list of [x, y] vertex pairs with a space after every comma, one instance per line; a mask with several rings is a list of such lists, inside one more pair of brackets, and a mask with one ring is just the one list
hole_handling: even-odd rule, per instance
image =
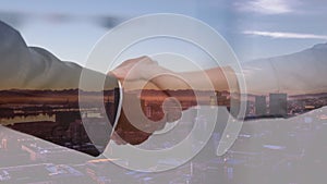
[[269, 114], [275, 116], [286, 116], [288, 113], [288, 95], [269, 95]]

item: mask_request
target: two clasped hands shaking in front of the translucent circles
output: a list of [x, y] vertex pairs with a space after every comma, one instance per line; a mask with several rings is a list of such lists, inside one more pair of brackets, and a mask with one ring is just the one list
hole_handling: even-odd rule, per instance
[[[195, 90], [239, 91], [235, 74], [230, 68], [177, 73], [148, 57], [128, 60], [109, 75], [116, 76], [123, 88], [121, 114], [111, 135], [118, 145], [142, 144], [166, 123], [181, 119], [183, 110], [197, 106]], [[135, 90], [141, 93], [133, 93]], [[173, 93], [177, 90], [181, 93]], [[187, 102], [183, 101], [185, 97]]]

